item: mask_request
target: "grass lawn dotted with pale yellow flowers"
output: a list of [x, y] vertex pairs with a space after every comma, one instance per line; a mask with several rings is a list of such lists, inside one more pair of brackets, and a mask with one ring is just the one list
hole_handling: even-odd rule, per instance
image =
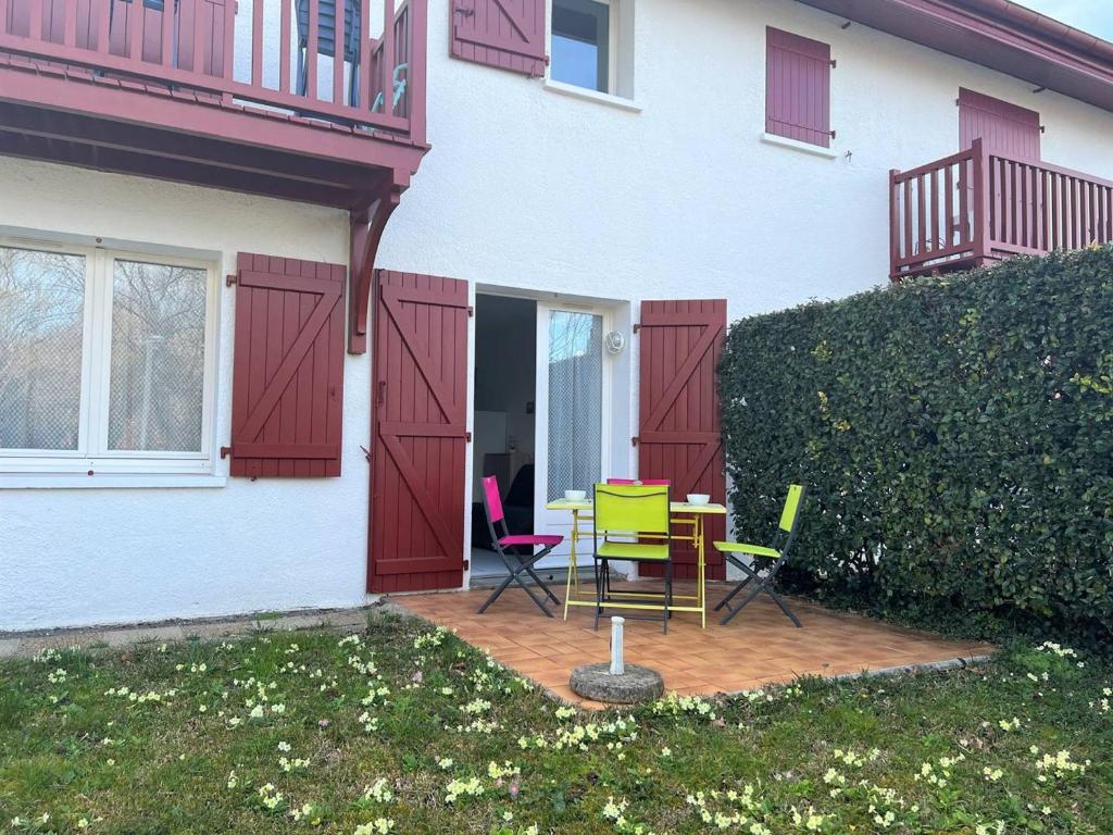
[[48, 652], [0, 664], [0, 832], [1109, 833], [1113, 668], [1062, 651], [602, 714], [391, 616]]

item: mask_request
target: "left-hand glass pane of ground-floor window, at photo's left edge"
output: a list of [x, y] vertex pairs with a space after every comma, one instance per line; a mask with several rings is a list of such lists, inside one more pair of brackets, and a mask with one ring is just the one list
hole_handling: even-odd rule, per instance
[[0, 247], [0, 448], [76, 450], [85, 257]]

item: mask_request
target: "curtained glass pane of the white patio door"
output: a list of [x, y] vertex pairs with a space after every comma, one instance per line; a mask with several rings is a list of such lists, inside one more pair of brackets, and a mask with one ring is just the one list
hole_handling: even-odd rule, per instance
[[549, 499], [591, 490], [603, 443], [603, 318], [549, 316]]

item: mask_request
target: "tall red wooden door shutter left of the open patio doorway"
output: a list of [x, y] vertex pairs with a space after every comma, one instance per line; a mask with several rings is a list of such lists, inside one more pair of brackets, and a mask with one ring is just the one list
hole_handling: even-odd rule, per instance
[[378, 271], [368, 591], [464, 581], [467, 283]]

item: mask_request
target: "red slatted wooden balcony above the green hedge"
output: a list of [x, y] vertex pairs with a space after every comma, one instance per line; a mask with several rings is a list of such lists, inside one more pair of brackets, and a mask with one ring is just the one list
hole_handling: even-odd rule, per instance
[[1113, 183], [1033, 159], [967, 150], [889, 173], [889, 277], [1113, 240]]

